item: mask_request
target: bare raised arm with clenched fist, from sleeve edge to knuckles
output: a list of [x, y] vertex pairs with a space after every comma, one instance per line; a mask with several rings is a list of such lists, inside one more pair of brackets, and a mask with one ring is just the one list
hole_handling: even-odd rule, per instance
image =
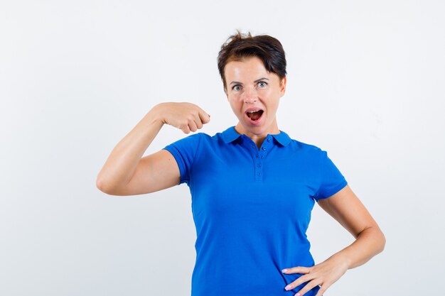
[[177, 185], [179, 168], [171, 153], [160, 150], [144, 158], [142, 155], [163, 124], [190, 133], [209, 121], [210, 116], [195, 104], [169, 102], [154, 106], [114, 147], [97, 175], [97, 188], [111, 195], [136, 195]]

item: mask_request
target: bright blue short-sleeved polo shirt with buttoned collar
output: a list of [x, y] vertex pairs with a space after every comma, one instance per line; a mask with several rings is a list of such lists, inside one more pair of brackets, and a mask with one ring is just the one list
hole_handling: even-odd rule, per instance
[[[348, 183], [326, 151], [280, 131], [261, 148], [235, 126], [171, 143], [181, 183], [191, 191], [196, 228], [192, 296], [285, 296], [302, 274], [283, 268], [315, 265], [306, 230], [318, 199]], [[320, 286], [305, 296], [314, 296]]]

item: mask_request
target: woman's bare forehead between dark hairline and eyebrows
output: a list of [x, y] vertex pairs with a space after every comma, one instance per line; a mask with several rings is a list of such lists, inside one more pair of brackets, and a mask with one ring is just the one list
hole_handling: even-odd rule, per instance
[[269, 77], [274, 73], [270, 73], [264, 67], [264, 64], [259, 57], [244, 57], [241, 60], [231, 60], [227, 62], [224, 68], [224, 74], [227, 80], [240, 77], [250, 77], [262, 75], [262, 77]]

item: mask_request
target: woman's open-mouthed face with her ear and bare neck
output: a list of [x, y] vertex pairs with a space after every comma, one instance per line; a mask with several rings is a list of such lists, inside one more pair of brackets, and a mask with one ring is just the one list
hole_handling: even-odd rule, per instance
[[286, 78], [267, 72], [258, 57], [231, 61], [224, 69], [227, 100], [240, 121], [235, 127], [247, 136], [279, 133], [277, 112], [279, 99], [286, 90]]

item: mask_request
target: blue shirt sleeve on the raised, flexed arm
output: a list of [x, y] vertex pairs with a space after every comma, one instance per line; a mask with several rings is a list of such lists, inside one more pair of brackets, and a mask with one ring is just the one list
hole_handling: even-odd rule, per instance
[[200, 134], [201, 133], [194, 133], [163, 148], [170, 152], [175, 158], [176, 163], [178, 163], [179, 172], [181, 173], [181, 180], [178, 185], [184, 182], [188, 184], [190, 181], [193, 159], [195, 158], [196, 150], [198, 150], [200, 143]]

